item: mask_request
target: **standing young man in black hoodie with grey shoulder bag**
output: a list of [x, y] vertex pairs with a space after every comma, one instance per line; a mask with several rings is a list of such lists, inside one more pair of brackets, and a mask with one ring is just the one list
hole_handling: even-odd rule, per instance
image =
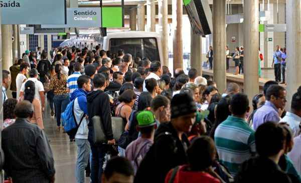
[[91, 146], [92, 161], [91, 163], [91, 182], [101, 182], [102, 166], [104, 162], [104, 156], [107, 151], [107, 146], [103, 144], [93, 143], [93, 127], [92, 118], [99, 116], [104, 128], [104, 133], [108, 144], [115, 144], [112, 132], [111, 110], [109, 104], [109, 97], [103, 92], [108, 85], [106, 79], [101, 74], [96, 74], [93, 79], [94, 89], [93, 92], [87, 95], [88, 116], [89, 116], [89, 134], [88, 140]]

